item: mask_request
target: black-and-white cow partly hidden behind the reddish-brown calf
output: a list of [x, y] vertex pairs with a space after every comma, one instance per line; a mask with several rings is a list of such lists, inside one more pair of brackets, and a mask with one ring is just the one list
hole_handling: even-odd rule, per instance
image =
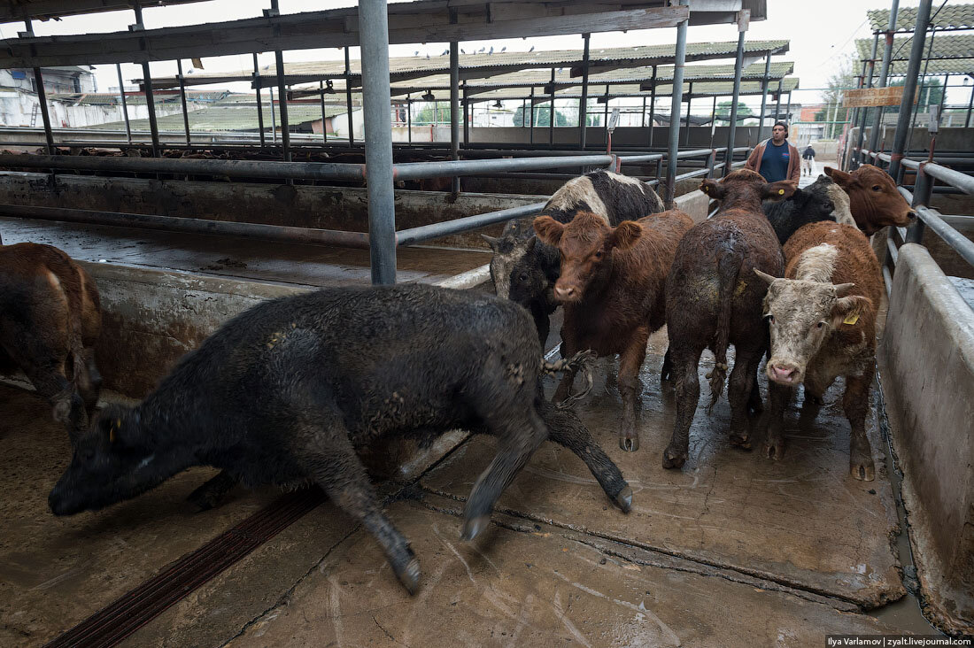
[[[566, 182], [539, 215], [567, 223], [577, 213], [587, 211], [616, 226], [623, 220], [636, 220], [662, 210], [659, 196], [645, 182], [620, 173], [596, 171]], [[509, 297], [531, 312], [544, 344], [549, 316], [558, 306], [551, 288], [558, 279], [560, 260], [556, 249], [535, 238], [532, 221], [511, 220], [501, 238], [484, 239], [494, 250], [490, 272], [498, 296]]]

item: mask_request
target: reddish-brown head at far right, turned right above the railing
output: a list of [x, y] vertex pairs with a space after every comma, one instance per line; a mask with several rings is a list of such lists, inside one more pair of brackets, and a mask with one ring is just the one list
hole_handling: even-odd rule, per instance
[[851, 173], [826, 167], [825, 173], [848, 194], [852, 218], [866, 236], [886, 225], [906, 227], [917, 217], [893, 178], [878, 167], [863, 165]]

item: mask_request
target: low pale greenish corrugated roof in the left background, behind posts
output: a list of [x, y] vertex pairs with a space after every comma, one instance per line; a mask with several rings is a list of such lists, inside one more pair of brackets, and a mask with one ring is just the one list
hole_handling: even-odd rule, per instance
[[[261, 106], [263, 109], [264, 129], [271, 129], [271, 107], [266, 103]], [[278, 112], [278, 108], [275, 108]], [[326, 117], [345, 114], [347, 111], [344, 106], [325, 106], [324, 114]], [[259, 124], [257, 121], [257, 108], [254, 106], [211, 106], [199, 110], [191, 110], [189, 113], [189, 127], [191, 131], [257, 131]], [[321, 119], [321, 106], [317, 103], [312, 104], [287, 104], [287, 122], [293, 128], [301, 124], [317, 122]], [[277, 115], [278, 126], [281, 125], [281, 116]], [[174, 115], [160, 116], [156, 118], [156, 123], [160, 131], [170, 131], [182, 133], [185, 130], [183, 125], [182, 113]], [[135, 131], [148, 131], [148, 119], [134, 119], [130, 122], [131, 129]], [[104, 131], [123, 131], [125, 122], [110, 122], [98, 124], [88, 128]]]

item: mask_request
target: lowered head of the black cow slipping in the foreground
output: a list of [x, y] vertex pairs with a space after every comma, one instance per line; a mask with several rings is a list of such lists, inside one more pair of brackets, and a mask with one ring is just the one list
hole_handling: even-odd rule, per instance
[[78, 439], [48, 504], [55, 515], [103, 509], [158, 486], [183, 468], [152, 447], [139, 428], [138, 410], [112, 405]]

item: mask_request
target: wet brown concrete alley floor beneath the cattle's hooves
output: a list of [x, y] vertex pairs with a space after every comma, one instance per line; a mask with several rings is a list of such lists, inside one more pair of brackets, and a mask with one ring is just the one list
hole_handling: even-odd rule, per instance
[[[777, 463], [730, 446], [722, 399], [712, 417], [697, 412], [687, 466], [664, 471], [673, 402], [659, 389], [663, 348], [657, 333], [638, 452], [618, 449], [620, 400], [604, 377], [579, 405], [635, 491], [629, 515], [578, 458], [545, 443], [486, 537], [461, 543], [458, 516], [494, 447], [472, 438], [417, 484], [380, 484], [422, 563], [417, 595], [325, 503], [126, 645], [822, 646], [828, 633], [932, 632], [863, 612], [904, 593], [875, 407], [874, 482], [847, 476], [836, 387], [812, 429], [798, 430], [790, 412]], [[702, 402], [705, 381], [701, 391]], [[277, 496], [239, 488], [223, 507], [195, 513], [183, 498], [212, 474], [195, 469], [107, 511], [59, 519], [46, 497], [68, 462], [63, 431], [26, 392], [0, 387], [0, 411], [0, 645], [56, 637]]]

